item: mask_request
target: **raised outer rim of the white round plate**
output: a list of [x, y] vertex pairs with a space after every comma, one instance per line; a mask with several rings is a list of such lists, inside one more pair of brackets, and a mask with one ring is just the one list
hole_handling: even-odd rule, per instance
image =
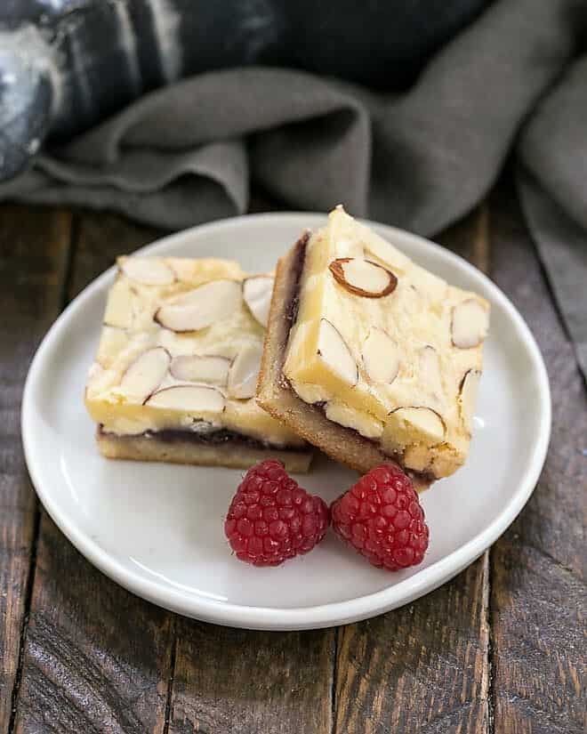
[[[177, 241], [189, 238], [193, 233], [198, 237], [204, 236], [206, 230], [219, 230], [223, 228], [239, 227], [244, 223], [261, 224], [270, 220], [290, 219], [299, 221], [301, 229], [307, 228], [309, 222], [324, 220], [326, 214], [317, 212], [269, 212], [263, 214], [243, 214], [236, 217], [227, 217], [214, 222], [206, 222], [187, 230], [181, 230], [166, 235], [163, 238], [142, 246], [134, 254], [155, 254], [159, 249], [173, 246]], [[67, 514], [62, 513], [57, 503], [52, 501], [51, 491], [44, 488], [43, 470], [35, 457], [35, 448], [31, 446], [29, 425], [34, 419], [34, 390], [41, 367], [44, 364], [44, 356], [51, 349], [52, 342], [60, 335], [60, 330], [68, 319], [83, 302], [90, 299], [95, 291], [99, 290], [106, 281], [113, 276], [116, 265], [105, 270], [91, 283], [84, 287], [81, 293], [71, 301], [67, 308], [55, 319], [52, 326], [44, 335], [42, 342], [36, 349], [36, 353], [28, 368], [28, 374], [22, 393], [21, 403], [21, 435], [24, 449], [25, 461], [33, 486], [44, 509], [61, 532], [68, 538], [76, 549], [100, 569], [107, 577], [126, 590], [140, 596], [147, 601], [157, 604], [164, 609], [169, 609], [178, 614], [213, 622], [218, 625], [229, 625], [245, 629], [257, 630], [302, 630], [318, 629], [333, 625], [349, 624], [368, 617], [374, 617], [390, 609], [397, 609], [425, 593], [430, 593], [438, 586], [446, 583], [486, 551], [486, 549], [499, 538], [518, 517], [527, 500], [532, 495], [535, 485], [542, 472], [543, 464], [548, 451], [551, 436], [551, 390], [548, 374], [544, 365], [543, 356], [535, 341], [535, 337], [527, 326], [514, 304], [503, 293], [502, 289], [481, 272], [466, 261], [459, 254], [455, 254], [446, 247], [438, 245], [428, 238], [423, 238], [412, 232], [401, 230], [381, 222], [361, 220], [368, 226], [379, 232], [387, 232], [388, 236], [398, 236], [404, 240], [412, 240], [420, 247], [431, 248], [441, 259], [449, 264], [468, 271], [474, 278], [480, 280], [486, 286], [487, 291], [495, 302], [499, 302], [505, 311], [511, 324], [515, 327], [516, 336], [524, 343], [531, 361], [535, 367], [536, 383], [540, 400], [540, 420], [538, 425], [538, 440], [535, 442], [532, 453], [528, 458], [527, 468], [522, 480], [519, 482], [509, 504], [503, 509], [486, 528], [481, 530], [467, 543], [449, 553], [444, 558], [432, 563], [412, 577], [403, 579], [398, 584], [390, 585], [374, 593], [368, 593], [344, 601], [332, 601], [326, 604], [310, 605], [308, 607], [278, 608], [278, 607], [256, 607], [236, 604], [229, 601], [218, 601], [206, 598], [204, 595], [186, 593], [179, 590], [161, 587], [156, 581], [146, 577], [138, 576], [128, 569], [115, 557], [92, 539], [92, 537], [70, 521]], [[296, 222], [297, 223], [297, 222]]]

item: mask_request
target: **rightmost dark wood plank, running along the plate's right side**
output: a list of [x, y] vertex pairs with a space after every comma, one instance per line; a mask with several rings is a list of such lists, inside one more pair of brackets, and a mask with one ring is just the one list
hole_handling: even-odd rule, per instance
[[587, 729], [587, 399], [511, 191], [497, 192], [493, 211], [495, 282], [518, 306], [543, 351], [553, 407], [541, 480], [492, 555], [495, 731], [578, 734]]

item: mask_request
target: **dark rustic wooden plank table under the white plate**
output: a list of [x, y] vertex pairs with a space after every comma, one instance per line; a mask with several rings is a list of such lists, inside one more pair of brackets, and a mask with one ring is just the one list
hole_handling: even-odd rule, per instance
[[583, 732], [585, 391], [511, 187], [440, 240], [494, 278], [540, 344], [554, 408], [542, 478], [454, 581], [318, 632], [157, 609], [93, 569], [36, 501], [19, 420], [31, 356], [115, 254], [157, 234], [110, 214], [0, 206], [0, 734]]

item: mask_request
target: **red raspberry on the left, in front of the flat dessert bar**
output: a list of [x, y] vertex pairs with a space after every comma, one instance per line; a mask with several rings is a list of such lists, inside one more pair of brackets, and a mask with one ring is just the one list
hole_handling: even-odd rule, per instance
[[328, 506], [287, 475], [280, 461], [256, 464], [232, 498], [224, 532], [237, 558], [278, 566], [308, 553], [326, 535]]

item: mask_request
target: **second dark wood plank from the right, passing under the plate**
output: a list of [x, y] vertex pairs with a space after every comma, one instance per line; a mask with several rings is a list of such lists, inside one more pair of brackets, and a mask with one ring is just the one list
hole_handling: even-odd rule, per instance
[[[488, 226], [482, 205], [438, 241], [486, 270]], [[342, 629], [335, 732], [488, 731], [488, 596], [485, 553], [436, 592]]]

